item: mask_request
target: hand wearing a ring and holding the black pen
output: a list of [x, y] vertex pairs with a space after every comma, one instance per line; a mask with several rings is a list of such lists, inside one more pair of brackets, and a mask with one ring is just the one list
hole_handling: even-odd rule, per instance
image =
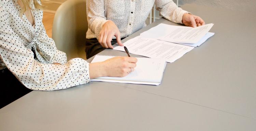
[[124, 77], [136, 67], [137, 58], [113, 57], [103, 62], [90, 63], [90, 79], [101, 76]]

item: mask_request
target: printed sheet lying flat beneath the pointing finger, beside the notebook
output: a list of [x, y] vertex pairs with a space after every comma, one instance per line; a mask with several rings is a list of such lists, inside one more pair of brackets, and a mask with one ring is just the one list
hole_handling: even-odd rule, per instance
[[[124, 43], [132, 54], [146, 56], [150, 58], [162, 58], [167, 62], [174, 62], [184, 54], [194, 49], [194, 47], [161, 41], [151, 38], [137, 36]], [[124, 46], [116, 46], [114, 50], [124, 51]]]

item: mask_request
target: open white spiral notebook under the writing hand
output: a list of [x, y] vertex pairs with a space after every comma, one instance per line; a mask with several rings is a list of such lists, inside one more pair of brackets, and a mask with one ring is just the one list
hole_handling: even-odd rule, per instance
[[[91, 63], [101, 62], [115, 56], [96, 55]], [[98, 77], [91, 81], [105, 81], [118, 83], [134, 83], [145, 85], [160, 85], [163, 72], [166, 66], [166, 60], [159, 58], [137, 58], [135, 70], [125, 77]]]

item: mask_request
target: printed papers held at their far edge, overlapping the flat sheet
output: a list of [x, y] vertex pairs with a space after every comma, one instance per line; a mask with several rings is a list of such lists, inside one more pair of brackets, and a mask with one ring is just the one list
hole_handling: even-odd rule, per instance
[[145, 38], [154, 38], [196, 47], [200, 46], [208, 38], [214, 35], [214, 33], [209, 32], [212, 26], [212, 23], [198, 26], [196, 28], [159, 24], [140, 35]]

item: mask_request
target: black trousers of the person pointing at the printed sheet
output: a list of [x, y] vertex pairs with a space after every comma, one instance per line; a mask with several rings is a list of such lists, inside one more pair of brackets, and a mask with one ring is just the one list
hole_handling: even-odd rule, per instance
[[[124, 39], [124, 38], [122, 38], [122, 39]], [[112, 39], [111, 44], [113, 45], [115, 43], [116, 43], [116, 39]], [[103, 50], [105, 50], [105, 48], [103, 48], [100, 45], [99, 41], [96, 38], [86, 39], [86, 42], [85, 42], [85, 53], [86, 53], [86, 58], [87, 59], [93, 57], [94, 55], [100, 53]]]

